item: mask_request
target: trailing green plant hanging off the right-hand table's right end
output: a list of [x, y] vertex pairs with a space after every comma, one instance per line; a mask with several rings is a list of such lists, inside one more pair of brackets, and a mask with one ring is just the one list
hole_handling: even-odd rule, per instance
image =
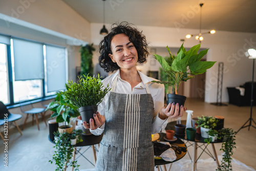
[[233, 130], [229, 128], [223, 128], [219, 130], [218, 138], [223, 138], [224, 141], [220, 150], [223, 151], [224, 154], [222, 155], [223, 158], [221, 161], [221, 165], [216, 170], [232, 170], [231, 156], [233, 155], [233, 149], [236, 148], [235, 134], [236, 132], [233, 132]]

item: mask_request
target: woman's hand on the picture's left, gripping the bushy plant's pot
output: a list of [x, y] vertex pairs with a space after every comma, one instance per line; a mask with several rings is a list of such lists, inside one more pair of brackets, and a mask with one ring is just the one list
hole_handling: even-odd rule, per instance
[[[86, 121], [82, 122], [83, 127], [85, 129], [96, 130], [98, 127], [101, 127], [106, 121], [104, 115], [100, 115], [99, 112], [96, 112], [96, 114], [93, 114], [93, 117], [94, 117], [95, 123], [92, 118], [90, 119], [90, 123], [87, 123]], [[77, 119], [82, 120], [81, 116], [78, 116]]]

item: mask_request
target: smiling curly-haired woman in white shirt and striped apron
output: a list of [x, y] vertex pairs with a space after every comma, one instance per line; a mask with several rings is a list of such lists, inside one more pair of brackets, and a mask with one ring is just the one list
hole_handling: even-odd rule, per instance
[[[106, 72], [111, 91], [98, 105], [90, 123], [92, 134], [101, 135], [95, 170], [154, 170], [151, 134], [161, 132], [167, 118], [183, 116], [179, 104], [164, 105], [164, 86], [136, 69], [148, 56], [145, 36], [127, 23], [114, 24], [100, 42], [99, 64]], [[79, 117], [79, 119], [81, 119]]]

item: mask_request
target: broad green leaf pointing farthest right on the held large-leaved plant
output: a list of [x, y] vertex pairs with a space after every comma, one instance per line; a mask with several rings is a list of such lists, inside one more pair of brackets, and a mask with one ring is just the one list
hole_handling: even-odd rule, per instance
[[[216, 61], [215, 61], [216, 62]], [[189, 66], [190, 72], [193, 75], [203, 74], [207, 69], [211, 68], [214, 63], [213, 61], [197, 61], [191, 63]]]

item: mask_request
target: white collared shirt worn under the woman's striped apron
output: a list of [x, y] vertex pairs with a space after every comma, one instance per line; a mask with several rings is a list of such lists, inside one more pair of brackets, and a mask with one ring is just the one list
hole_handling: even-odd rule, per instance
[[[150, 93], [152, 95], [153, 101], [154, 101], [154, 120], [152, 122], [152, 134], [156, 134], [161, 132], [162, 129], [165, 128], [167, 124], [167, 119], [162, 120], [158, 117], [159, 111], [162, 109], [164, 106], [164, 85], [151, 82], [153, 80], [156, 80], [151, 77], [147, 77], [146, 75], [142, 74], [139, 72], [141, 82], [137, 84], [132, 90], [131, 84], [125, 80], [122, 80], [120, 77], [120, 70], [117, 70], [115, 74], [112, 74], [108, 77], [106, 77], [104, 80], [102, 80], [104, 87], [107, 87], [108, 84], [110, 87], [113, 86], [113, 81], [115, 77], [117, 76], [117, 82], [116, 82], [116, 88], [115, 88], [115, 93], [122, 93], [122, 94], [146, 94], [146, 84], [148, 86], [148, 89], [150, 89]], [[110, 96], [110, 92], [108, 92], [103, 101], [98, 105], [98, 112], [100, 115], [104, 115], [105, 111], [105, 105], [108, 103]], [[91, 130], [91, 133], [94, 135], [101, 135], [104, 131], [105, 123], [98, 129], [96, 130]]]

